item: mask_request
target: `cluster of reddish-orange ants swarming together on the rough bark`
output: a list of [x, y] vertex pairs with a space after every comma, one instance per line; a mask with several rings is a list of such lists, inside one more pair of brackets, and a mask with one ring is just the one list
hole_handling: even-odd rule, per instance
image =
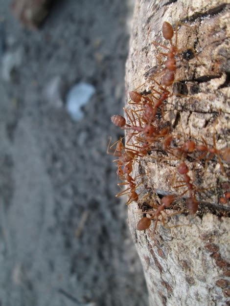
[[[178, 134], [175, 132], [175, 125], [169, 123], [165, 118], [164, 108], [168, 98], [173, 95], [176, 98], [178, 96], [173, 92], [173, 84], [180, 61], [182, 61], [182, 50], [177, 47], [178, 24], [174, 33], [172, 25], [163, 22], [162, 35], [168, 42], [167, 45], [157, 42], [152, 42], [152, 44], [161, 48], [161, 51], [163, 49], [162, 52], [159, 51], [159, 56], [166, 60], [161, 61], [160, 70], [158, 69], [158, 72], [150, 77], [151, 86], [148, 87], [148, 90], [137, 91], [147, 83], [145, 82], [136, 90], [129, 92], [131, 100], [128, 107], [124, 108], [125, 117], [112, 116], [113, 124], [126, 131], [126, 142], [124, 144], [123, 138], [120, 138], [111, 145], [110, 141], [107, 149], [107, 153], [112, 153], [117, 157], [114, 162], [117, 165], [117, 175], [122, 181], [118, 183], [122, 191], [116, 197], [128, 195], [127, 205], [133, 201], [138, 202], [142, 218], [138, 221], [137, 230], [146, 230], [154, 220], [153, 234], [159, 218], [164, 223], [165, 216], [175, 215], [175, 213], [168, 214], [166, 211], [174, 208], [178, 200], [181, 200], [184, 209], [180, 209], [180, 212], [176, 214], [183, 211], [186, 214], [194, 215], [199, 212], [200, 203], [208, 203], [206, 199], [208, 192], [218, 195], [219, 205], [227, 204], [230, 198], [230, 183], [228, 182], [230, 148], [227, 147], [227, 141], [224, 147], [218, 149], [216, 147], [217, 118], [212, 120], [211, 144], [202, 135]], [[188, 97], [182, 94], [181, 96]], [[168, 194], [159, 195], [159, 188], [155, 189], [154, 184], [146, 183], [145, 177], [148, 173], [145, 172], [146, 167], [143, 167], [141, 163], [150, 159], [152, 163], [155, 161], [156, 167], [159, 164], [165, 164], [166, 171], [168, 165], [173, 169], [171, 192]], [[136, 176], [133, 174], [135, 163], [141, 169], [139, 171], [141, 174]], [[212, 169], [218, 171], [218, 175], [214, 173], [219, 176], [216, 186], [204, 185], [211, 175], [210, 165]], [[163, 176], [166, 175], [166, 171]], [[158, 202], [153, 200], [154, 195], [160, 198]]]

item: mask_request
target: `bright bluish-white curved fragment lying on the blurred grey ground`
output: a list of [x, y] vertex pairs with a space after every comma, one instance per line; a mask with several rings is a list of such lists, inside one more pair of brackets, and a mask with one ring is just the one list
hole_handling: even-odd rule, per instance
[[88, 83], [81, 82], [71, 87], [67, 94], [66, 109], [73, 120], [78, 121], [83, 118], [84, 113], [81, 108], [90, 101], [94, 93], [95, 88]]

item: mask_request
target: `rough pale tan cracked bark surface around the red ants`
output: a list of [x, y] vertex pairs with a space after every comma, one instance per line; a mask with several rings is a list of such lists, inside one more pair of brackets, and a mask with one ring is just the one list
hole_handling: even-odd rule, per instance
[[[167, 21], [174, 26], [178, 21], [186, 22], [190, 27], [182, 25], [179, 28], [178, 46], [184, 51], [194, 48], [197, 56], [180, 61], [176, 74], [178, 82], [173, 90], [187, 96], [172, 95], [164, 107], [165, 118], [173, 126], [173, 135], [179, 135], [181, 139], [190, 136], [202, 143], [203, 136], [213, 146], [214, 134], [217, 149], [228, 146], [228, 3], [221, 0], [137, 0], [126, 65], [128, 101], [129, 91], [145, 82], [141, 90], [153, 85], [151, 75], [159, 70], [159, 61], [157, 48], [151, 42], [165, 44], [161, 34], [162, 22]], [[173, 186], [176, 185], [175, 180], [180, 179], [176, 172], [179, 161], [162, 158], [160, 162], [152, 155], [136, 163], [136, 173], [147, 173], [143, 178], [142, 195], [151, 189], [156, 192], [154, 200], [157, 201], [158, 196], [178, 193]], [[200, 205], [195, 218], [185, 213], [178, 214], [166, 224], [189, 226], [167, 228], [159, 222], [153, 237], [152, 222], [149, 230], [138, 232], [136, 225], [141, 214], [137, 212], [144, 211], [145, 202], [142, 200], [129, 205], [128, 222], [143, 264], [150, 305], [229, 305], [229, 206], [218, 204], [224, 192], [222, 183], [227, 179], [215, 160], [208, 163], [206, 172], [200, 163], [187, 163], [193, 169], [190, 174], [196, 185], [201, 188], [215, 186], [199, 193]], [[177, 207], [180, 206], [183, 207], [183, 199], [177, 204]]]

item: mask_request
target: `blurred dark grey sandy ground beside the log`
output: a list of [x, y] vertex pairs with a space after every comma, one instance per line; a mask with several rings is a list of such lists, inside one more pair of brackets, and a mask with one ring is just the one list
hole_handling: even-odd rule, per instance
[[[120, 133], [110, 116], [123, 106], [132, 3], [56, 1], [38, 32], [19, 26], [9, 4], [0, 0], [0, 60], [22, 51], [0, 81], [0, 306], [145, 306], [106, 155]], [[47, 101], [56, 76], [96, 88], [81, 121]]]

